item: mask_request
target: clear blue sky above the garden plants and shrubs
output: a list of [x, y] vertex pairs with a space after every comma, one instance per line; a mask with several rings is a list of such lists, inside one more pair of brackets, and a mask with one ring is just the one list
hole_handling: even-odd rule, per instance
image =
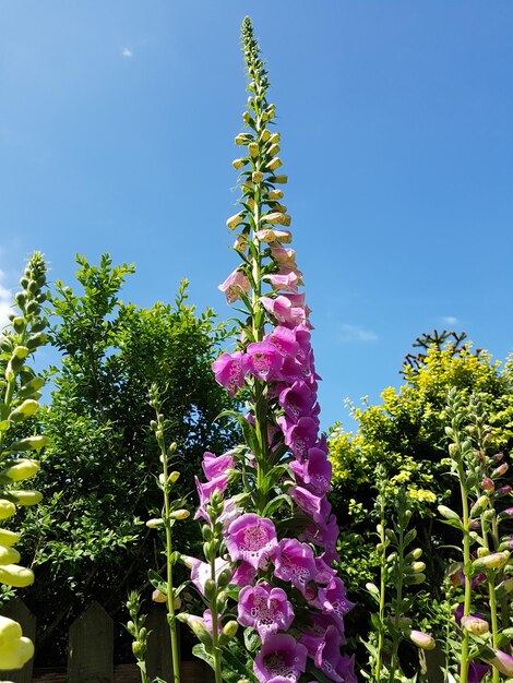
[[41, 250], [135, 262], [124, 300], [228, 309], [230, 161], [253, 19], [313, 310], [323, 424], [410, 343], [513, 350], [509, 0], [0, 0], [0, 311]]

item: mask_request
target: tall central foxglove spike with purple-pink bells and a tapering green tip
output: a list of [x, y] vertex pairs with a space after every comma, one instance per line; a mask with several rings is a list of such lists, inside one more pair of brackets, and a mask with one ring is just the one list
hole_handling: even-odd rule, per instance
[[[201, 513], [207, 518], [204, 548], [210, 552], [208, 539], [222, 520], [208, 512], [215, 501], [219, 510], [223, 504], [226, 519], [218, 553], [229, 559], [229, 583], [243, 585], [238, 609], [227, 609], [226, 616], [219, 609], [218, 618], [225, 628], [224, 620], [237, 612], [239, 624], [253, 630], [255, 647], [247, 648], [238, 636], [229, 648], [260, 683], [278, 679], [297, 683], [307, 666], [312, 679], [319, 670], [323, 681], [350, 683], [351, 663], [341, 648], [343, 618], [353, 606], [330, 566], [338, 560], [338, 527], [326, 499], [331, 467], [325, 439], [319, 433], [320, 378], [309, 309], [300, 291], [302, 274], [295, 251], [285, 247], [293, 239], [285, 229], [291, 218], [282, 203], [284, 192], [276, 188], [287, 181], [277, 175], [283, 161], [279, 133], [274, 130], [276, 108], [267, 100], [267, 71], [248, 17], [242, 49], [249, 97], [244, 129], [235, 139], [240, 211], [227, 221], [236, 233], [234, 250], [241, 263], [220, 286], [229, 299], [237, 299], [241, 334], [238, 348], [223, 354], [213, 371], [231, 396], [244, 392], [249, 410], [237, 416], [246, 443], [230, 452], [230, 484], [225, 482], [228, 472], [217, 470], [215, 479], [223, 477], [223, 487], [214, 491], [215, 479], [208, 475], [208, 484], [198, 483]], [[205, 457], [210, 463], [213, 455]], [[225, 499], [234, 472], [243, 490]], [[241, 507], [235, 516], [227, 513], [234, 505]], [[217, 580], [212, 572], [205, 595], [214, 594]], [[219, 603], [223, 609], [225, 602]], [[320, 631], [334, 634], [330, 643]], [[224, 645], [222, 637], [218, 645]], [[212, 652], [215, 657], [216, 648]]]

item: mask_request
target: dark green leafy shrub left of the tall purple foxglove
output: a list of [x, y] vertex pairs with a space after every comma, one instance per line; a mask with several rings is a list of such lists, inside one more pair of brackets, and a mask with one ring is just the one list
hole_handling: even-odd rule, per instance
[[[58, 281], [50, 300], [62, 366], [52, 369], [41, 416], [51, 440], [37, 482], [44, 501], [27, 515], [24, 536], [37, 576], [27, 601], [43, 632], [39, 651], [53, 657], [85, 606], [98, 600], [116, 620], [129, 589], [144, 587], [147, 570], [164, 563], [156, 532], [144, 525], [162, 505], [150, 385], [159, 387], [167, 438], [179, 444], [180, 493], [193, 505], [203, 452], [223, 453], [234, 439], [226, 421], [214, 422], [232, 404], [211, 371], [226, 336], [213, 312], [195, 314], [187, 283], [172, 305], [123, 304], [119, 290], [133, 266], [112, 266], [108, 255], [99, 266], [77, 263], [83, 293]], [[195, 525], [183, 528], [179, 549], [190, 553]]]

